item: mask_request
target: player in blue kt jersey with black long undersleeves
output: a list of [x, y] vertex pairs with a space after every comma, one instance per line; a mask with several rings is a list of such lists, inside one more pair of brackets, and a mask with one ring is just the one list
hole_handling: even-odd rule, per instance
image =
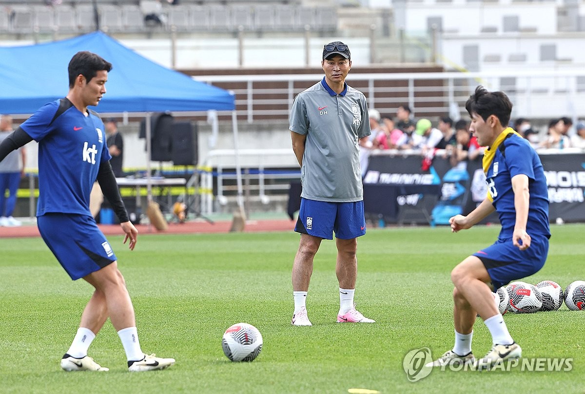
[[134, 307], [118, 270], [116, 255], [90, 213], [94, 182], [118, 215], [130, 250], [138, 231], [118, 191], [109, 164], [104, 123], [87, 107], [98, 105], [106, 93], [112, 64], [82, 51], [68, 66], [65, 98], [37, 110], [0, 144], [0, 161], [33, 139], [39, 143], [39, 202], [37, 225], [43, 240], [71, 279], [83, 278], [95, 291], [81, 315], [80, 328], [61, 359], [65, 371], [108, 371], [87, 355], [106, 320], [118, 331], [129, 371], [150, 371], [172, 365], [173, 358], [146, 355], [140, 348]]

